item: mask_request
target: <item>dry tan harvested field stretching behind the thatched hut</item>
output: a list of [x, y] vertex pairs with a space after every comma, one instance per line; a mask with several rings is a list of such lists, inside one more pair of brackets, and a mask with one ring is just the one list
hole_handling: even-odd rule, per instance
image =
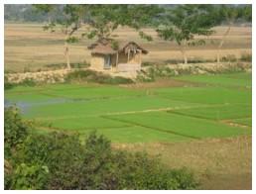
[[[35, 70], [47, 64], [64, 63], [64, 36], [60, 33], [44, 32], [43, 25], [36, 24], [5, 24], [5, 70], [22, 71], [24, 67]], [[215, 28], [216, 33], [206, 39], [206, 46], [188, 50], [190, 59], [215, 59], [216, 48], [225, 27]], [[81, 31], [84, 31], [82, 29]], [[144, 61], [163, 62], [172, 59], [182, 59], [175, 43], [165, 42], [157, 37], [152, 29], [145, 29], [152, 35], [154, 42], [146, 42], [131, 29], [118, 29], [115, 33], [119, 41], [133, 40], [149, 49]], [[251, 28], [234, 27], [223, 46], [222, 55], [234, 54], [240, 57], [242, 52], [251, 53]], [[90, 60], [87, 46], [93, 40], [81, 40], [70, 47], [71, 62]]]

